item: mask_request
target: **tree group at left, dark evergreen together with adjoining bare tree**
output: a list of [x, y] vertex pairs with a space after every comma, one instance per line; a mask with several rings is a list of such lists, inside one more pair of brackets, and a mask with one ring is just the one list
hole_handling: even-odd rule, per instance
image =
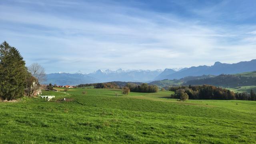
[[6, 41], [0, 45], [0, 98], [18, 99], [32, 96], [44, 81], [44, 68], [38, 64], [25, 66], [19, 51]]

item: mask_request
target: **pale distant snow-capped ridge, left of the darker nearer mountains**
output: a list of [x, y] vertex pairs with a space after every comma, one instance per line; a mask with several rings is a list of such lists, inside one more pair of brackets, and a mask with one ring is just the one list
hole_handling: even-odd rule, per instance
[[134, 82], [147, 82], [154, 77], [162, 73], [162, 70], [157, 69], [155, 71], [150, 70], [123, 70], [118, 69], [111, 71], [106, 69], [105, 71], [97, 70], [93, 73], [84, 74], [81, 71], [77, 73], [51, 73], [47, 74], [47, 81], [44, 84], [56, 84], [56, 85], [79, 85], [86, 83], [104, 83], [110, 81], [134, 81]]

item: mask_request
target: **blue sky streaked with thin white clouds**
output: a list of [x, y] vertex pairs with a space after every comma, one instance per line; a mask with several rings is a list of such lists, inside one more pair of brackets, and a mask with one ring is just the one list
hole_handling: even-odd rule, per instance
[[0, 41], [46, 73], [256, 59], [256, 0], [1, 0]]

